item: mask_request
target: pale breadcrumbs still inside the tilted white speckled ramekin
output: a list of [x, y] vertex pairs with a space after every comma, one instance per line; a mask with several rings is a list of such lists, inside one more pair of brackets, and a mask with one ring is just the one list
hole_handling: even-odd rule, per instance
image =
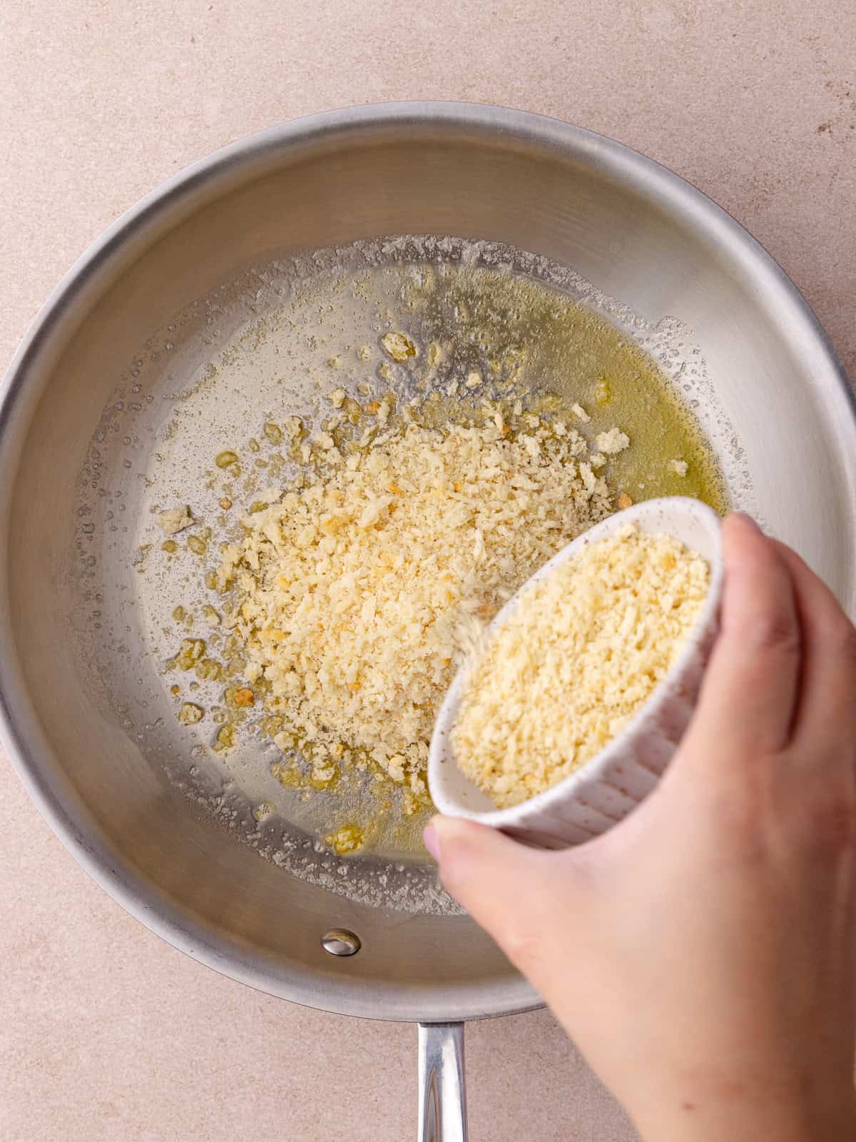
[[578, 770], [651, 697], [709, 581], [701, 556], [627, 526], [530, 587], [475, 656], [452, 730], [460, 769], [500, 807]]

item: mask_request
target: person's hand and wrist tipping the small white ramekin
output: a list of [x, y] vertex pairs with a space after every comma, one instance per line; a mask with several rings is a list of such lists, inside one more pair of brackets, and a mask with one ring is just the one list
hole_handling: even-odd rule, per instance
[[451, 818], [426, 843], [645, 1139], [851, 1140], [856, 632], [752, 521], [724, 544], [721, 633], [655, 791], [564, 852]]

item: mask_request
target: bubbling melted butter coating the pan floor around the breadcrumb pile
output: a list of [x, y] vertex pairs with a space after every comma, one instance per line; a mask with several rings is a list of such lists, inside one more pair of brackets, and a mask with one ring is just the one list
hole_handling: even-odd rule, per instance
[[[385, 352], [389, 331], [412, 357]], [[399, 236], [270, 259], [176, 314], [129, 362], [89, 444], [74, 540], [79, 660], [104, 716], [196, 811], [290, 875], [363, 904], [454, 915], [420, 843], [429, 806], [403, 812], [401, 789], [371, 773], [344, 770], [333, 790], [283, 782], [269, 718], [224, 702], [240, 670], [229, 681], [176, 665], [185, 640], [224, 659], [228, 636], [205, 614], [228, 603], [207, 578], [223, 544], [240, 541], [240, 514], [299, 476], [280, 426], [298, 416], [317, 429], [333, 389], [363, 407], [436, 393], [438, 423], [487, 399], [534, 397], [568, 417], [582, 403], [590, 439], [629, 433], [609, 478], [635, 499], [749, 507], [749, 476], [687, 330], [651, 327], [568, 270], [496, 243]], [[194, 525], [164, 539], [158, 515], [177, 505]], [[199, 723], [183, 724], [188, 709]], [[324, 838], [342, 828], [371, 845], [337, 854]]]

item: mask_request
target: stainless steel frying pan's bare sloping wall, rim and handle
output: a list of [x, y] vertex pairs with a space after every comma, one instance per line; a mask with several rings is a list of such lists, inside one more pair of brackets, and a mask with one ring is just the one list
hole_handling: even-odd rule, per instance
[[[0, 412], [0, 700], [22, 779], [90, 875], [177, 948], [292, 1002], [425, 1024], [422, 1136], [452, 1140], [466, 1134], [459, 1024], [538, 997], [467, 917], [291, 876], [239, 843], [227, 794], [189, 778], [179, 788], [196, 766], [135, 673], [137, 620], [116, 562], [131, 541], [120, 509], [131, 518], [142, 493], [92, 451], [98, 432], [110, 451], [132, 404], [128, 447], [138, 458], [155, 447], [183, 379], [181, 329], [169, 362], [148, 353], [137, 389], [135, 362], [195, 299], [273, 255], [390, 233], [506, 242], [573, 266], [648, 323], [685, 323], [737, 426], [758, 510], [851, 612], [856, 421], [799, 292], [704, 195], [597, 135], [463, 104], [318, 115], [196, 163], [96, 242], [27, 333]], [[419, 891], [431, 877], [419, 862], [369, 874]], [[360, 950], [339, 955], [356, 946], [349, 933]]]

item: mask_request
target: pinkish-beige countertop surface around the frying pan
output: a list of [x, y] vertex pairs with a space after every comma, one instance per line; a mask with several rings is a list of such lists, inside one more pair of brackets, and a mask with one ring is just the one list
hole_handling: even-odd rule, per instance
[[[72, 260], [186, 163], [278, 120], [454, 98], [621, 139], [730, 210], [856, 373], [856, 9], [835, 0], [5, 0], [0, 363]], [[180, 15], [173, 14], [180, 9]], [[258, 995], [163, 943], [0, 763], [3, 1142], [399, 1142], [415, 1032]], [[546, 1013], [468, 1030], [474, 1142], [622, 1142]]]

